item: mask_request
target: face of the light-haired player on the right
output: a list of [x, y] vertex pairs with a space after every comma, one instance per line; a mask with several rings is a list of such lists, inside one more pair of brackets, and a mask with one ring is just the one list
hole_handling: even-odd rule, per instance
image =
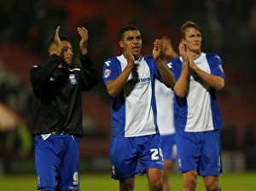
[[183, 43], [186, 45], [187, 51], [201, 51], [201, 32], [195, 28], [188, 28], [185, 31], [185, 38], [183, 38]]

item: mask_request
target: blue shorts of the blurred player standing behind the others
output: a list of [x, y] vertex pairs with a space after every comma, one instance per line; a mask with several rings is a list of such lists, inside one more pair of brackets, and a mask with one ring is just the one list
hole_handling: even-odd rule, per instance
[[161, 136], [162, 138], [162, 151], [165, 160], [172, 160], [175, 162], [177, 160], [177, 146], [175, 140], [175, 134]]

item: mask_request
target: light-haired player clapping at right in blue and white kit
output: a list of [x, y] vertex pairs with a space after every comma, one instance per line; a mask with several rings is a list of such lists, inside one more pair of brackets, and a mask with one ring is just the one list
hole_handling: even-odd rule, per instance
[[167, 63], [176, 80], [175, 127], [183, 191], [195, 190], [197, 175], [203, 177], [207, 191], [220, 190], [219, 130], [224, 123], [216, 94], [224, 88], [224, 71], [218, 55], [201, 52], [201, 40], [200, 27], [192, 21], [184, 23], [180, 56]]

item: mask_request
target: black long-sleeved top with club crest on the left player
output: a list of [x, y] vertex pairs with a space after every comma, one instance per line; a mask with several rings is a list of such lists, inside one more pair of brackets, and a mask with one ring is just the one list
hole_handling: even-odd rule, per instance
[[95, 87], [98, 77], [89, 55], [80, 55], [79, 59], [82, 67], [59, 68], [61, 57], [51, 55], [44, 66], [31, 68], [30, 80], [36, 97], [33, 135], [61, 128], [65, 134], [83, 136], [82, 91]]

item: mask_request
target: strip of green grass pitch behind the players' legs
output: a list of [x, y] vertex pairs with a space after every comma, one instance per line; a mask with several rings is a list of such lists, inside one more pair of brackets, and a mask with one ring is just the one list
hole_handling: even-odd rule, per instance
[[[219, 177], [223, 191], [255, 191], [256, 172], [223, 174]], [[181, 191], [183, 180], [180, 173], [171, 177], [172, 190]], [[135, 191], [148, 191], [146, 175], [137, 176]], [[0, 177], [0, 190], [36, 190], [36, 176]], [[110, 178], [110, 174], [83, 174], [81, 175], [81, 191], [118, 191], [119, 182]], [[201, 177], [198, 177], [197, 191], [205, 191]]]

